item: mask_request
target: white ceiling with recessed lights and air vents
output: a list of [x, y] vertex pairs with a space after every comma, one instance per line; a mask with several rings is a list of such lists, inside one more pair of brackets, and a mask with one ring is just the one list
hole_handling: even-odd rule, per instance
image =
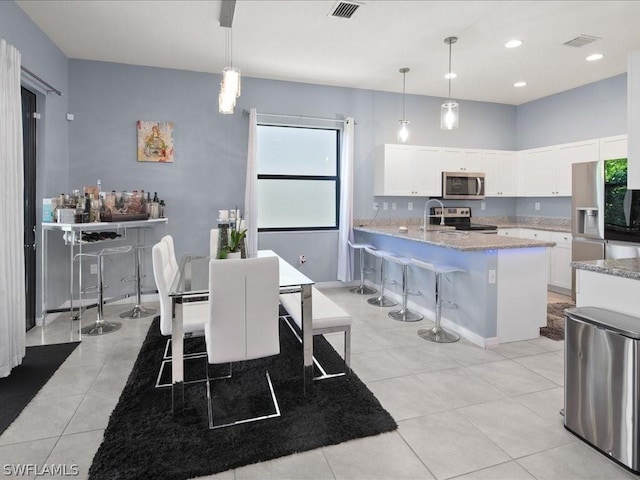
[[[519, 105], [626, 72], [640, 50], [640, 1], [238, 0], [233, 63], [244, 76]], [[222, 1], [18, 0], [69, 58], [220, 73]], [[579, 35], [600, 37], [576, 48]], [[524, 43], [506, 49], [506, 41]], [[598, 62], [585, 57], [600, 52]], [[514, 88], [524, 80], [528, 85]]]

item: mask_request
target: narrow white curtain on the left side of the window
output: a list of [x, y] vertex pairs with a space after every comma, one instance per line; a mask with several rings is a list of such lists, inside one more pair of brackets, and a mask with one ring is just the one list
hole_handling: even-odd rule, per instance
[[247, 256], [258, 253], [258, 114], [249, 111], [249, 146], [247, 149], [247, 179], [244, 190], [244, 218], [247, 229]]

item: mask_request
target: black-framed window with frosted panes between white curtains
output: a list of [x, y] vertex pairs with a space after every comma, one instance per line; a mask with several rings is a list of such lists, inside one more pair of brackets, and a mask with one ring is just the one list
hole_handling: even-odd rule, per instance
[[258, 229], [335, 230], [337, 129], [258, 125]]

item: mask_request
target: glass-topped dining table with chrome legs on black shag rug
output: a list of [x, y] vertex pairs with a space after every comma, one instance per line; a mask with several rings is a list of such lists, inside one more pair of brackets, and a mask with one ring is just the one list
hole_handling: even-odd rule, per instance
[[[258, 250], [258, 257], [278, 257], [280, 293], [300, 293], [302, 312], [302, 394], [307, 394], [313, 385], [313, 328], [312, 291], [314, 281], [304, 275], [273, 250]], [[204, 299], [209, 295], [209, 255], [185, 255], [171, 285], [171, 389], [173, 413], [184, 410], [184, 344], [182, 303], [189, 299]]]

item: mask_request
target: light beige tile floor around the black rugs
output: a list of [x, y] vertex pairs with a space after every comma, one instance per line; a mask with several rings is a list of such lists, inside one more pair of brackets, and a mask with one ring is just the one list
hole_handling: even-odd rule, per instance
[[[399, 323], [347, 289], [325, 292], [353, 315], [353, 369], [398, 430], [203, 478], [636, 478], [563, 428], [563, 342], [540, 338], [494, 350], [464, 340], [433, 344], [416, 335], [429, 321]], [[125, 309], [106, 312], [115, 319]], [[116, 333], [84, 337], [0, 436], [0, 465], [77, 465], [74, 478], [86, 478], [150, 322], [123, 320]], [[31, 345], [68, 340], [63, 318], [28, 333]]]

